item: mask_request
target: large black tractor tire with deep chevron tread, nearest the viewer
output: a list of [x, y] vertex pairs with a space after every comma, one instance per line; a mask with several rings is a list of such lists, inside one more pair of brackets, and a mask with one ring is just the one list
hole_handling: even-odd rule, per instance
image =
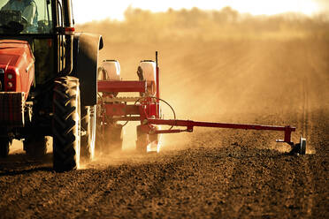
[[53, 108], [54, 170], [77, 169], [80, 163], [79, 79], [62, 77], [55, 81]]

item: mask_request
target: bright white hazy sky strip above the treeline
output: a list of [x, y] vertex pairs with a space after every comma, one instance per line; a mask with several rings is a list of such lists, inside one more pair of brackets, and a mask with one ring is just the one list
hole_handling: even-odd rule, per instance
[[167, 11], [168, 8], [181, 9], [198, 7], [207, 10], [220, 10], [225, 6], [254, 15], [276, 14], [299, 11], [311, 15], [318, 11], [329, 11], [329, 0], [73, 0], [76, 23], [99, 19], [124, 19], [124, 11], [131, 5], [151, 11]]

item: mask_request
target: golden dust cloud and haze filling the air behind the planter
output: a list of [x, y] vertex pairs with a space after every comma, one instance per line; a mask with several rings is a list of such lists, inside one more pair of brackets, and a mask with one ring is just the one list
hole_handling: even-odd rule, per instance
[[[287, 117], [300, 114], [302, 119], [305, 106], [300, 102], [305, 102], [305, 93], [311, 91], [310, 110], [325, 102], [326, 14], [251, 16], [231, 8], [157, 13], [128, 8], [125, 15], [124, 21], [105, 19], [77, 30], [103, 35], [100, 60], [119, 60], [122, 79], [138, 79], [139, 62], [155, 60], [158, 51], [160, 97], [172, 105], [179, 119], [302, 129], [299, 121]], [[316, 76], [324, 83], [318, 85]], [[162, 106], [164, 118], [173, 118], [171, 109]], [[125, 153], [111, 158], [127, 155], [130, 159], [129, 154], [134, 154], [136, 125], [130, 122], [125, 127]], [[194, 138], [209, 130], [165, 134], [162, 148], [190, 147]]]

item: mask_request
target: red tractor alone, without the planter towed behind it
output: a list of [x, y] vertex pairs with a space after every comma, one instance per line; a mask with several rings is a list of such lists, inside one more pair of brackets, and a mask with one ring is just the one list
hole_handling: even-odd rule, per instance
[[73, 170], [80, 157], [94, 155], [102, 36], [75, 33], [70, 0], [16, 1], [21, 8], [6, 2], [0, 5], [0, 156], [16, 139], [40, 158], [52, 136], [54, 169]]

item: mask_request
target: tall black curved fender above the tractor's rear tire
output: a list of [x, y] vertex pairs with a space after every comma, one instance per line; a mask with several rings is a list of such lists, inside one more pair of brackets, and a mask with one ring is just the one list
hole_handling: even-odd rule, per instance
[[97, 102], [98, 52], [102, 48], [101, 35], [74, 34], [72, 75], [80, 81], [80, 102], [83, 106], [93, 106]]

